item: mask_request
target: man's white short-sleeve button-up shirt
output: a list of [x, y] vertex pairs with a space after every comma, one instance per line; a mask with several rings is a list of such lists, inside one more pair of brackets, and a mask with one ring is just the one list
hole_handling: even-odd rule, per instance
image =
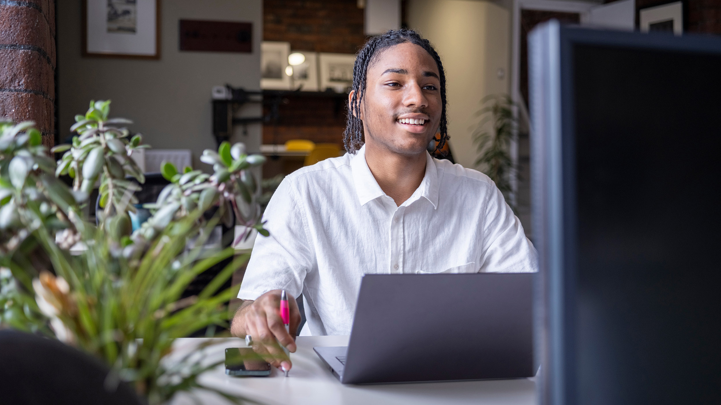
[[[348, 335], [365, 274], [534, 272], [536, 250], [485, 174], [426, 157], [399, 207], [366, 163], [365, 146], [289, 174], [264, 214], [238, 298], [304, 295], [311, 334]], [[432, 297], [429, 297], [432, 298]]]

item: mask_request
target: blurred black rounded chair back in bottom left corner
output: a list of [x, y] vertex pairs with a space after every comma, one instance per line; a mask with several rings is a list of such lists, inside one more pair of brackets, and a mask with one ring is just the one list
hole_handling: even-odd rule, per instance
[[2, 330], [0, 365], [3, 404], [143, 404], [127, 383], [105, 387], [102, 362], [55, 339]]

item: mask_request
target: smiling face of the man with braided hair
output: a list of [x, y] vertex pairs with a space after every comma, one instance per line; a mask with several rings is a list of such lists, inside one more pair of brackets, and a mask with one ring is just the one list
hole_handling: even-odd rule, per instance
[[441, 81], [433, 57], [418, 45], [385, 48], [368, 67], [361, 120], [366, 144], [423, 153], [441, 120]]

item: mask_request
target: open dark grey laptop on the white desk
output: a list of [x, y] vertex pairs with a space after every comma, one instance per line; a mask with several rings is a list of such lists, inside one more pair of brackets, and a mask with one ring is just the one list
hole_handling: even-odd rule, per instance
[[531, 377], [533, 277], [366, 275], [348, 347], [313, 349], [342, 383]]

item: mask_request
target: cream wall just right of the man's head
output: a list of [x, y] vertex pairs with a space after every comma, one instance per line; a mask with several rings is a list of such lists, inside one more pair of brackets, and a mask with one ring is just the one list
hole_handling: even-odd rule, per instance
[[441, 55], [451, 152], [456, 163], [473, 168], [478, 153], [471, 135], [479, 102], [488, 94], [508, 94], [510, 14], [490, 1], [408, 0], [406, 19]]

